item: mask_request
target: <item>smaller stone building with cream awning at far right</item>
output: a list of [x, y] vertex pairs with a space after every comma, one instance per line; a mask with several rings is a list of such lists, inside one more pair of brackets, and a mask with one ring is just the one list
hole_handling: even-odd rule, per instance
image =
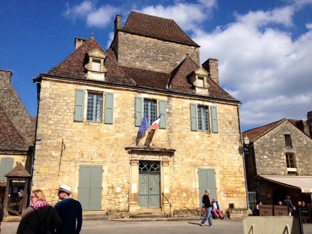
[[244, 145], [248, 190], [257, 191], [258, 201], [277, 205], [290, 195], [293, 203], [312, 202], [312, 138], [295, 122], [284, 118], [243, 132], [250, 141]]

